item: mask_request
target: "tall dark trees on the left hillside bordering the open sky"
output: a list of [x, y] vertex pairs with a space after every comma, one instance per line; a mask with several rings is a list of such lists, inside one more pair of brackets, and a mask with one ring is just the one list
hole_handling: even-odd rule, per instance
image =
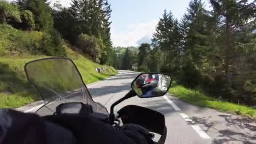
[[[72, 0], [69, 8], [62, 8], [56, 4], [53, 10], [54, 27], [67, 38], [72, 44], [77, 45], [81, 50], [91, 56], [93, 60], [101, 64], [113, 65], [112, 42], [110, 39], [111, 15], [110, 4], [107, 0]], [[81, 44], [81, 35], [94, 45], [89, 51]], [[94, 40], [95, 37], [98, 40]], [[77, 41], [79, 40], [79, 41]], [[95, 42], [92, 42], [95, 41]], [[96, 42], [98, 41], [98, 42]], [[79, 45], [78, 45], [79, 44]], [[91, 45], [91, 44], [90, 44]], [[100, 46], [100, 48], [98, 48]], [[85, 51], [85, 49], [87, 49]], [[96, 56], [94, 56], [96, 54]]]

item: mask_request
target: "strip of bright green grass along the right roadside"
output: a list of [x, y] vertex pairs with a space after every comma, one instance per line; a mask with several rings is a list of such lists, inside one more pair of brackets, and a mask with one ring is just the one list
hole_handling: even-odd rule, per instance
[[239, 114], [253, 119], [256, 118], [256, 109], [205, 96], [200, 91], [184, 88], [180, 85], [175, 85], [173, 88], [170, 88], [169, 93], [189, 104], [194, 104], [200, 107], [209, 107], [220, 112]]

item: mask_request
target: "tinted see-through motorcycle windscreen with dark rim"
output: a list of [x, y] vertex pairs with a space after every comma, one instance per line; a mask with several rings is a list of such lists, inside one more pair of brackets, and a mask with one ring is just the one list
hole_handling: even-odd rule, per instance
[[75, 64], [70, 59], [50, 58], [32, 61], [25, 66], [29, 81], [42, 96], [46, 107], [55, 112], [66, 102], [90, 104], [94, 112], [108, 114], [107, 109], [92, 100]]

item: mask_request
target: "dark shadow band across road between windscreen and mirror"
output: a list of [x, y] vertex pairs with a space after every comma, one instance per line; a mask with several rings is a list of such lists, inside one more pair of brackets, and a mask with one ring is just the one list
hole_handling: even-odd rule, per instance
[[104, 96], [111, 93], [119, 93], [121, 91], [126, 91], [131, 88], [131, 83], [122, 83], [121, 85], [109, 85], [103, 86], [99, 88], [89, 88], [89, 92], [91, 93], [92, 97]]

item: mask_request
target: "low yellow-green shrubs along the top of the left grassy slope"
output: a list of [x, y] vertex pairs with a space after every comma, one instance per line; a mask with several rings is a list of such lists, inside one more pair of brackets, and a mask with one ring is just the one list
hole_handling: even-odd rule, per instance
[[0, 25], [0, 55], [12, 51], [45, 53], [49, 56], [67, 56], [61, 35], [54, 29], [49, 32], [24, 32], [10, 25]]

